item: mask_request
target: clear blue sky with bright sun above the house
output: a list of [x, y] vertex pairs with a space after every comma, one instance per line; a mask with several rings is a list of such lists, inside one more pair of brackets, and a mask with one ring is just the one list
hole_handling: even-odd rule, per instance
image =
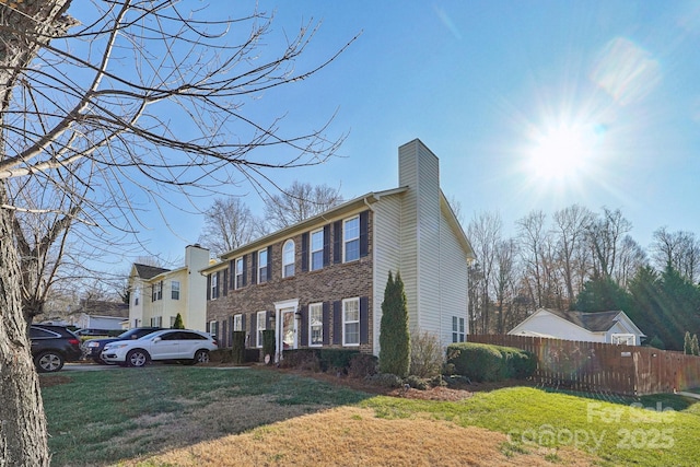
[[[254, 5], [210, 3], [231, 16]], [[337, 112], [329, 135], [349, 132], [340, 157], [279, 173], [282, 186], [325, 183], [346, 198], [395, 187], [397, 148], [420, 138], [467, 222], [498, 212], [512, 233], [533, 210], [580, 203], [620, 209], [643, 247], [661, 226], [700, 235], [699, 2], [261, 0], [259, 9], [275, 11], [270, 39], [323, 21], [300, 66], [362, 32], [319, 74], [256, 104], [260, 115], [288, 112], [290, 131]], [[249, 188], [232, 192], [260, 209]], [[203, 220], [171, 215], [179, 237], [154, 221], [143, 238], [182, 258]]]

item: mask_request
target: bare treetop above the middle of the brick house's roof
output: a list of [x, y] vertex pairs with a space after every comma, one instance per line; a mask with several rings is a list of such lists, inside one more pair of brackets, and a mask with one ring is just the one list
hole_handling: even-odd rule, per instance
[[273, 229], [284, 229], [341, 202], [339, 189], [294, 180], [289, 188], [267, 197], [265, 218]]

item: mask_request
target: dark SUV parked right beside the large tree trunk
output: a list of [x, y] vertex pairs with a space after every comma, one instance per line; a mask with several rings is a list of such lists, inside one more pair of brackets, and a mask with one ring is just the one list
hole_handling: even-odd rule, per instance
[[31, 325], [32, 358], [40, 373], [57, 372], [67, 361], [80, 360], [80, 339], [63, 326]]

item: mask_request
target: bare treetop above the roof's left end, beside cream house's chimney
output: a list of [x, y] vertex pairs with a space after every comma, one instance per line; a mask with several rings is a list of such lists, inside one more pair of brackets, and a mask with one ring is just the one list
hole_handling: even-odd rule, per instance
[[217, 198], [206, 212], [199, 243], [220, 256], [265, 235], [265, 225], [241, 198]]

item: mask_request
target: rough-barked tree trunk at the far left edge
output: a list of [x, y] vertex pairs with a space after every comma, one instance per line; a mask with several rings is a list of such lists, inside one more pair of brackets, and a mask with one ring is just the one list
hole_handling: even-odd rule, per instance
[[[0, 127], [11, 94], [42, 46], [72, 24], [63, 15], [70, 0], [26, 0], [0, 4]], [[7, 157], [4, 135], [0, 160]], [[0, 183], [0, 205], [7, 205]], [[12, 236], [12, 211], [0, 208], [0, 467], [48, 466], [46, 418], [22, 313], [20, 257]]]

